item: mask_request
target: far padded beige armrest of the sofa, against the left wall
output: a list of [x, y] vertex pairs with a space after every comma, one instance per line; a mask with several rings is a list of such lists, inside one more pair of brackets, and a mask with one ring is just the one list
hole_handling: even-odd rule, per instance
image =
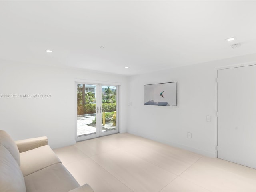
[[32, 149], [47, 145], [48, 138], [46, 136], [30, 138], [30, 139], [18, 140], [18, 141], [15, 141], [15, 143], [17, 144], [20, 153], [22, 153], [28, 150], [32, 150]]

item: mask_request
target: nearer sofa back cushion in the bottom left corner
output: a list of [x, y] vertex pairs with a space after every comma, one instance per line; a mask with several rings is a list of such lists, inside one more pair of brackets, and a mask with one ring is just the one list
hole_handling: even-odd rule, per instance
[[0, 144], [0, 192], [26, 192], [23, 174], [16, 160]]

